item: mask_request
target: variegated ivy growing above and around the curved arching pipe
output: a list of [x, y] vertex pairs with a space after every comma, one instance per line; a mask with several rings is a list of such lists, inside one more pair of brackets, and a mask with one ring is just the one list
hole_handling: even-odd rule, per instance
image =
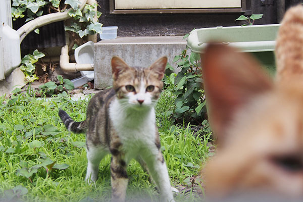
[[[12, 17], [13, 20], [16, 20], [26, 15], [25, 22], [27, 22], [40, 17], [45, 11], [48, 13], [63, 12], [71, 7], [72, 9], [68, 11], [68, 14], [73, 18], [73, 21], [65, 26], [66, 31], [75, 32], [81, 38], [88, 34], [101, 33], [102, 24], [94, 19], [94, 16], [99, 18], [101, 15], [100, 12], [95, 11], [97, 5], [86, 4], [84, 9], [80, 11], [78, 8], [80, 4], [79, 0], [65, 0], [64, 3], [62, 0], [13, 0]], [[39, 30], [36, 29], [35, 32], [39, 33]]]

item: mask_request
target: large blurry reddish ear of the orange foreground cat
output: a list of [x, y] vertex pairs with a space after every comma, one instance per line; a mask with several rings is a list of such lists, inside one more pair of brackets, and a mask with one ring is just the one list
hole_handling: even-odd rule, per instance
[[210, 44], [201, 58], [210, 124], [221, 142], [235, 113], [273, 82], [256, 60], [230, 46]]

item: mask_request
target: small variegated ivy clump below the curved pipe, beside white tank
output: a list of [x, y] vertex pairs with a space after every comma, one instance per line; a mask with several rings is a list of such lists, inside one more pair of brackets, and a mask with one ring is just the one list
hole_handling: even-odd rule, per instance
[[44, 56], [45, 55], [43, 53], [35, 49], [33, 54], [28, 54], [22, 58], [20, 69], [24, 72], [25, 79], [28, 82], [33, 82], [34, 80], [38, 79], [37, 75], [34, 74], [36, 69], [35, 63]]

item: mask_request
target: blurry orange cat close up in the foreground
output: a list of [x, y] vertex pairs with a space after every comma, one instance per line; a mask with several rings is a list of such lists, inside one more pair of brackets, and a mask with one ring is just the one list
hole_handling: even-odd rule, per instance
[[302, 6], [286, 12], [275, 56], [274, 78], [251, 56], [224, 44], [209, 44], [201, 56], [218, 141], [215, 157], [201, 173], [209, 198], [303, 197]]

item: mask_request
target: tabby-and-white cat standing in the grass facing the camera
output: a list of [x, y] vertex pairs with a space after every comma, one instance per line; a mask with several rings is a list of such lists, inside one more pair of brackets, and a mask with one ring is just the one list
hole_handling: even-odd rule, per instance
[[131, 159], [136, 159], [156, 182], [161, 201], [174, 201], [154, 109], [163, 88], [167, 57], [148, 68], [130, 67], [119, 57], [113, 57], [111, 64], [113, 88], [91, 98], [85, 121], [74, 122], [66, 112], [59, 111], [68, 130], [86, 131], [85, 180], [96, 181], [99, 162], [110, 153], [112, 201], [124, 201], [126, 168]]

